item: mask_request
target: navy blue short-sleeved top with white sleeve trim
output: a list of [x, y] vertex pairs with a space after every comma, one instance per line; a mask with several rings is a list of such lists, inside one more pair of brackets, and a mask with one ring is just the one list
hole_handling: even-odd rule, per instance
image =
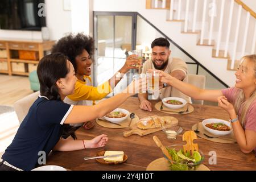
[[32, 104], [21, 123], [13, 142], [2, 159], [23, 170], [31, 170], [38, 164], [39, 151], [51, 152], [60, 140], [61, 129], [73, 105], [61, 101], [39, 98]]

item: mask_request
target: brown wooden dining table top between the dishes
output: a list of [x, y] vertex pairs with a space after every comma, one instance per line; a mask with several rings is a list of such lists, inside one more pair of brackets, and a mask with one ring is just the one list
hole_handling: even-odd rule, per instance
[[[179, 126], [184, 131], [192, 130], [192, 126], [207, 118], [219, 118], [228, 120], [228, 113], [217, 106], [209, 105], [193, 105], [195, 110], [189, 114], [171, 115], [162, 113], [155, 109], [154, 105], [159, 102], [151, 100], [153, 110], [144, 111], [139, 107], [139, 101], [136, 97], [130, 97], [124, 102], [120, 108], [129, 110], [135, 113], [139, 118], [150, 115], [172, 116], [179, 120]], [[158, 146], [156, 146], [152, 137], [156, 135], [164, 146], [171, 146], [172, 144], [185, 144], [182, 141], [182, 135], [178, 135], [176, 140], [170, 140], [163, 131], [158, 131], [143, 137], [139, 135], [131, 135], [130, 137], [123, 137], [125, 129], [110, 129], [95, 125], [90, 130], [80, 128], [76, 131], [78, 139], [92, 139], [100, 134], [106, 134], [109, 137], [108, 144], [102, 148], [93, 148], [70, 152], [51, 152], [47, 159], [47, 165], [57, 165], [70, 170], [97, 170], [97, 171], [144, 171], [148, 164], [153, 160], [163, 157], [163, 153]], [[253, 152], [250, 154], [243, 154], [237, 143], [217, 143], [211, 142], [203, 138], [194, 140], [198, 143], [199, 150], [203, 152], [205, 159], [203, 164], [210, 170], [256, 170], [256, 158]], [[98, 163], [95, 159], [84, 160], [85, 156], [95, 156], [100, 151], [124, 151], [128, 156], [125, 163], [118, 165], [105, 165]], [[213, 162], [213, 155], [216, 152], [216, 163]], [[210, 159], [210, 162], [209, 162]]]

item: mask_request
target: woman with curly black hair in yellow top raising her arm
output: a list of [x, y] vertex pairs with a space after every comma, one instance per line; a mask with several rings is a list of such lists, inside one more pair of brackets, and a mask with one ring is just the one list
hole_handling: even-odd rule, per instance
[[[68, 56], [68, 59], [75, 68], [76, 77], [78, 78], [75, 86], [75, 93], [65, 98], [64, 102], [73, 105], [95, 105], [96, 100], [106, 97], [115, 85], [121, 80], [130, 69], [138, 69], [135, 67], [139, 60], [134, 55], [127, 57], [125, 65], [115, 75], [104, 84], [97, 87], [92, 86], [91, 67], [92, 56], [94, 54], [94, 39], [84, 34], [69, 34], [61, 38], [52, 48], [52, 53], [61, 52]], [[84, 123], [85, 129], [94, 126], [94, 121]], [[73, 126], [81, 126], [77, 123]]]

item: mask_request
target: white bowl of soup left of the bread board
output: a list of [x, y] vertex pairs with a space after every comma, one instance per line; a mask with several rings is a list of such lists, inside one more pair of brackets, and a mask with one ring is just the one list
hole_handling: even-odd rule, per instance
[[104, 116], [104, 119], [113, 123], [119, 123], [127, 119], [127, 117], [129, 117], [129, 114], [130, 114], [129, 111], [125, 109], [117, 108], [111, 111], [110, 113], [106, 114]]

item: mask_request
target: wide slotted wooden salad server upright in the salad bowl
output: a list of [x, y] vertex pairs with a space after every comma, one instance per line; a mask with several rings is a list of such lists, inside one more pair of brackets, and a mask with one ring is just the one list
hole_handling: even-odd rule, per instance
[[193, 143], [193, 140], [195, 139], [197, 139], [197, 135], [194, 131], [186, 131], [183, 134], [182, 140], [187, 142], [187, 144], [183, 145], [184, 152], [193, 152], [194, 150], [198, 151], [198, 144]]

